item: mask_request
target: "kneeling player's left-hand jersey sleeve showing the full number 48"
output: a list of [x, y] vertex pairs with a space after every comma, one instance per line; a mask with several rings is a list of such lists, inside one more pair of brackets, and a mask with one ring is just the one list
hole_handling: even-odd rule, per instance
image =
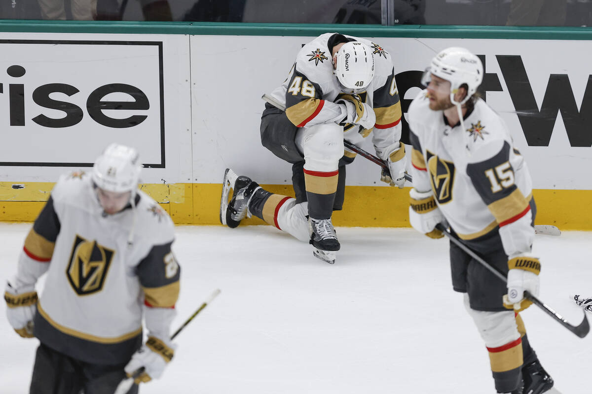
[[323, 100], [320, 84], [298, 70], [298, 63], [289, 75], [286, 90], [286, 115], [297, 127], [341, 122], [347, 115], [345, 107]]

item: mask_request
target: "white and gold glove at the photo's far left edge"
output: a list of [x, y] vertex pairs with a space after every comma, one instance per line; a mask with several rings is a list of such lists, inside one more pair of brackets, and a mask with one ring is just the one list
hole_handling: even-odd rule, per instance
[[33, 338], [33, 317], [37, 308], [37, 292], [34, 286], [14, 288], [7, 282], [4, 292], [8, 322], [23, 338]]

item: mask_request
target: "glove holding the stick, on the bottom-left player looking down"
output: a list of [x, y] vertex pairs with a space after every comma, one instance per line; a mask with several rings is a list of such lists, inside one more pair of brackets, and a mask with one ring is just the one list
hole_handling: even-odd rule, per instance
[[131, 377], [136, 370], [144, 367], [144, 372], [134, 378], [135, 383], [159, 379], [166, 365], [172, 360], [175, 349], [175, 344], [165, 343], [156, 337], [148, 337], [146, 343], [131, 356], [124, 370], [127, 376]]

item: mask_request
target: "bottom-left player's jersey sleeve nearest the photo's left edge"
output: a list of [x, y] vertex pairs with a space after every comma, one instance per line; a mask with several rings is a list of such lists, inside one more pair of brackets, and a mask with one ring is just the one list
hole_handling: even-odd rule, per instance
[[18, 273], [14, 278], [14, 286], [34, 285], [49, 269], [59, 233], [60, 220], [54, 209], [53, 197], [50, 196], [27, 234], [18, 258]]

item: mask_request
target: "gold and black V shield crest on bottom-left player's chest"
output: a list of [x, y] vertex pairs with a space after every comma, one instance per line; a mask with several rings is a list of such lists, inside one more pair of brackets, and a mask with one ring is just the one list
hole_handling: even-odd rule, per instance
[[78, 295], [102, 290], [114, 254], [114, 250], [76, 235], [66, 276]]

